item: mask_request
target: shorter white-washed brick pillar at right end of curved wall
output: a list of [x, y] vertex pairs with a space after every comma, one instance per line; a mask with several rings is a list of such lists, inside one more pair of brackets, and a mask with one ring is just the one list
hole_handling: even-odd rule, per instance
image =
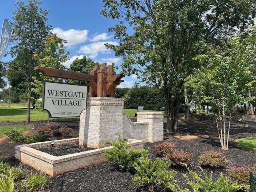
[[148, 122], [148, 142], [164, 140], [164, 116], [162, 112], [137, 112], [138, 122]]

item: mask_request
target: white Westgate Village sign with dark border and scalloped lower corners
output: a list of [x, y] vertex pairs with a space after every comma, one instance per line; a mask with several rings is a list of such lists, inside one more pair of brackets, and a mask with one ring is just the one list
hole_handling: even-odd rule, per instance
[[50, 117], [78, 117], [86, 109], [87, 87], [44, 82], [43, 109]]

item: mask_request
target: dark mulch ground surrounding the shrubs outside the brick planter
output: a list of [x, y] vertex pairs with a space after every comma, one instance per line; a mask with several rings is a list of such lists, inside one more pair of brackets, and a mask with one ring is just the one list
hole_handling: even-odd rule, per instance
[[[245, 118], [244, 121], [249, 122], [250, 130], [243, 128], [244, 122], [232, 121], [230, 144], [229, 150], [227, 151], [222, 151], [220, 148], [214, 118], [204, 115], [192, 114], [190, 115], [190, 120], [180, 119], [179, 132], [176, 134], [165, 132], [164, 141], [171, 141], [178, 150], [193, 153], [190, 169], [196, 170], [200, 175], [202, 173], [198, 167], [199, 156], [208, 150], [222, 151], [229, 160], [225, 166], [218, 169], [203, 168], [207, 174], [213, 171], [213, 178], [216, 179], [221, 172], [226, 175], [225, 169], [229, 166], [256, 166], [256, 153], [245, 151], [234, 143], [236, 138], [256, 137], [256, 120]], [[66, 122], [67, 125], [69, 123], [74, 130], [77, 130], [76, 134], [78, 134], [79, 122]], [[65, 122], [61, 122], [60, 124], [65, 124]], [[198, 138], [190, 140], [181, 139], [184, 135], [196, 135]], [[180, 137], [176, 138], [175, 136]], [[153, 151], [155, 144], [144, 144], [144, 148], [148, 148], [149, 150], [149, 157], [151, 159], [156, 158], [156, 154]], [[0, 147], [4, 146], [1, 144]], [[11, 147], [10, 144], [8, 144], [8, 147]], [[22, 166], [31, 168], [24, 164]], [[176, 178], [179, 180], [179, 186], [182, 188], [188, 187], [182, 176], [183, 173], [188, 173], [187, 170], [175, 166], [171, 166], [170, 169], [177, 172]], [[132, 183], [133, 177], [134, 173], [120, 171], [114, 163], [105, 162], [54, 176], [50, 178], [51, 183], [49, 187], [45, 190], [40, 190], [40, 192], [58, 192], [60, 190], [61, 180], [64, 181], [63, 192], [148, 192], [148, 188], [134, 186]]]

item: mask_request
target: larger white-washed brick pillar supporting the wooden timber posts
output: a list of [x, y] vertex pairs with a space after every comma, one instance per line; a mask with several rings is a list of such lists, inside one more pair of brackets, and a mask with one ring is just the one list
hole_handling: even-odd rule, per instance
[[112, 97], [91, 97], [80, 115], [79, 145], [92, 148], [106, 146], [106, 141], [123, 136], [124, 100]]

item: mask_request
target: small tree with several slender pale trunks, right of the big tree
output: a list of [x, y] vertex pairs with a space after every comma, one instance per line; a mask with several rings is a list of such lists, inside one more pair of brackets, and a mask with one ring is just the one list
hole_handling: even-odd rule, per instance
[[195, 59], [204, 66], [188, 78], [187, 86], [196, 90], [202, 101], [212, 106], [223, 150], [228, 150], [233, 107], [243, 100], [242, 93], [251, 81], [253, 49], [244, 44], [240, 35], [236, 35], [232, 40], [223, 41], [220, 48], [197, 56]]

